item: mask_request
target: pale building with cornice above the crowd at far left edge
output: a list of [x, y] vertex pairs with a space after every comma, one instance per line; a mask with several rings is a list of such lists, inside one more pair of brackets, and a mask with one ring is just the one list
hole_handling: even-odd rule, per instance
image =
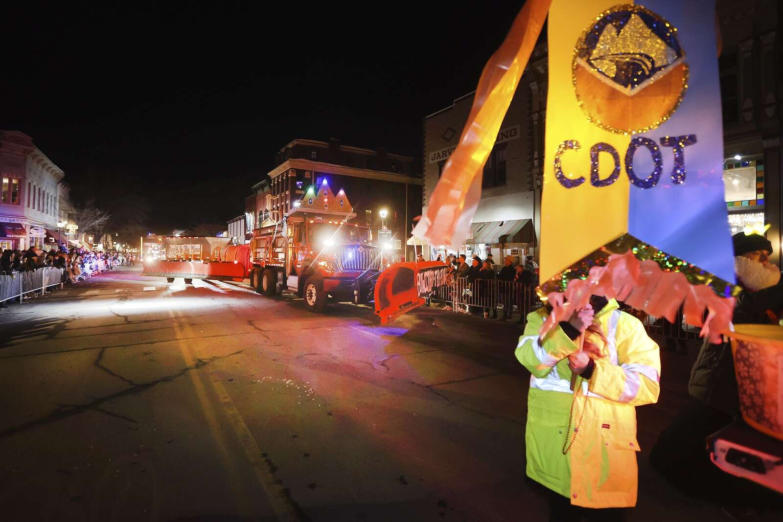
[[0, 248], [55, 247], [63, 171], [30, 136], [0, 131], [0, 174]]

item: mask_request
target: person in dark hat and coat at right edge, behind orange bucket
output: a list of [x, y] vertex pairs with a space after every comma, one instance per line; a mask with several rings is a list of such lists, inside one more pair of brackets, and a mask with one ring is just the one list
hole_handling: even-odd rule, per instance
[[[732, 242], [734, 272], [742, 287], [732, 322], [777, 323], [783, 310], [783, 285], [780, 270], [769, 262], [772, 243], [745, 232], [735, 234]], [[705, 340], [691, 369], [688, 394], [687, 404], [651, 449], [650, 464], [681, 491], [723, 502], [738, 482], [709, 462], [705, 439], [740, 415], [731, 343]]]

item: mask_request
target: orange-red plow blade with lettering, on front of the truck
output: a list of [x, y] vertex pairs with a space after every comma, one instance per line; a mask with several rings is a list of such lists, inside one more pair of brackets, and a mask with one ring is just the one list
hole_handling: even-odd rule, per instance
[[381, 324], [424, 304], [426, 298], [449, 280], [449, 265], [441, 261], [395, 263], [375, 283], [375, 313]]

